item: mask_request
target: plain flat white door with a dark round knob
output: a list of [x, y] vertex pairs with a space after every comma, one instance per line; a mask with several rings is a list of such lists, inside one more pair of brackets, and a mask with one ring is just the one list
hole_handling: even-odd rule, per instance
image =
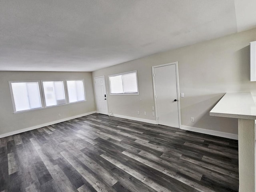
[[176, 63], [152, 67], [158, 124], [179, 128]]

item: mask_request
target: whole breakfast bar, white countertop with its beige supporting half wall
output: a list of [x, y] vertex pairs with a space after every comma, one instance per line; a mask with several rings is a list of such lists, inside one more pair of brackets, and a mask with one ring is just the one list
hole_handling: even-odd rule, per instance
[[239, 192], [256, 192], [256, 104], [251, 93], [226, 93], [210, 116], [238, 119]]

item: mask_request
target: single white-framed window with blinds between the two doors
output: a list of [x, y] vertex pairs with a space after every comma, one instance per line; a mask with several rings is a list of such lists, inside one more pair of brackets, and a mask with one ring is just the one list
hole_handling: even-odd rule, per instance
[[137, 71], [108, 76], [110, 94], [138, 95]]

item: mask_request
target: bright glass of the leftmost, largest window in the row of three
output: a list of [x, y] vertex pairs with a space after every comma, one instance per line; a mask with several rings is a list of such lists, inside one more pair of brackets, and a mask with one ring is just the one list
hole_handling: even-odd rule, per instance
[[38, 82], [12, 82], [16, 112], [42, 108]]

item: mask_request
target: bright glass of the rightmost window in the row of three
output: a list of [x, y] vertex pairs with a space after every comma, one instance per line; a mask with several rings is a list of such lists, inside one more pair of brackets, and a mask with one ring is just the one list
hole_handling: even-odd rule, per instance
[[84, 101], [84, 81], [83, 80], [67, 80], [68, 101], [70, 103]]

